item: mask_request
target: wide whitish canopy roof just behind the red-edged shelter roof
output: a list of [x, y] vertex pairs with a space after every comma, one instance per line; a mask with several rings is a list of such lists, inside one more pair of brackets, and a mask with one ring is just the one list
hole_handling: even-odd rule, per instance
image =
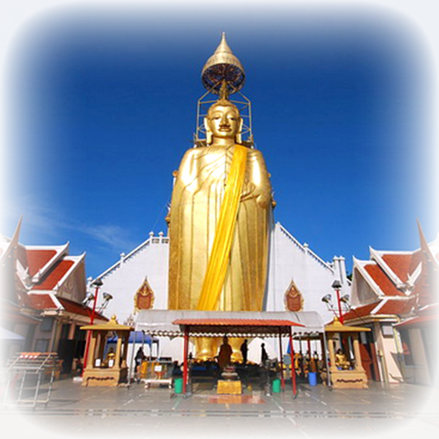
[[[139, 311], [136, 331], [150, 335], [182, 337], [183, 332], [175, 320], [182, 319], [237, 319], [237, 320], [290, 320], [304, 327], [292, 327], [293, 334], [315, 335], [324, 333], [324, 323], [316, 311], [182, 311], [147, 309]], [[261, 336], [268, 336], [262, 335]]]

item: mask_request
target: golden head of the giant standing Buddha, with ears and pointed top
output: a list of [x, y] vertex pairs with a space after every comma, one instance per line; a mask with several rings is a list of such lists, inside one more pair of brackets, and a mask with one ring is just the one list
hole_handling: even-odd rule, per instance
[[216, 139], [241, 143], [242, 123], [237, 106], [227, 99], [224, 92], [204, 118], [206, 143], [210, 145]]

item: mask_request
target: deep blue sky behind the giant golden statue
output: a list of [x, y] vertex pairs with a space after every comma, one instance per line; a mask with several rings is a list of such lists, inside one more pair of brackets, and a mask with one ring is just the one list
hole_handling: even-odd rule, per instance
[[[176, 6], [177, 8], [177, 6]], [[191, 147], [201, 69], [225, 31], [246, 70], [275, 219], [322, 259], [418, 248], [438, 233], [429, 142], [433, 63], [385, 8], [212, 12], [71, 6], [14, 40], [2, 232], [71, 243], [97, 276], [166, 232], [172, 171]]]

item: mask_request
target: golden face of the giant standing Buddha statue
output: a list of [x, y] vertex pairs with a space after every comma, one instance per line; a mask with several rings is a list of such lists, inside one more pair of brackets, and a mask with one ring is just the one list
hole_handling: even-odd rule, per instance
[[235, 139], [241, 126], [241, 118], [235, 106], [217, 104], [209, 108], [206, 123], [213, 138]]

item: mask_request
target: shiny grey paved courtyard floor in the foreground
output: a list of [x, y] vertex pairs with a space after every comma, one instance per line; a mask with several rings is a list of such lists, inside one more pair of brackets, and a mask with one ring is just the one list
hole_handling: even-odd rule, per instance
[[168, 388], [83, 388], [54, 383], [47, 407], [3, 407], [1, 425], [32, 438], [407, 438], [438, 437], [438, 392], [410, 384], [368, 390], [299, 385], [270, 396], [246, 388], [218, 396], [208, 381], [187, 398]]

